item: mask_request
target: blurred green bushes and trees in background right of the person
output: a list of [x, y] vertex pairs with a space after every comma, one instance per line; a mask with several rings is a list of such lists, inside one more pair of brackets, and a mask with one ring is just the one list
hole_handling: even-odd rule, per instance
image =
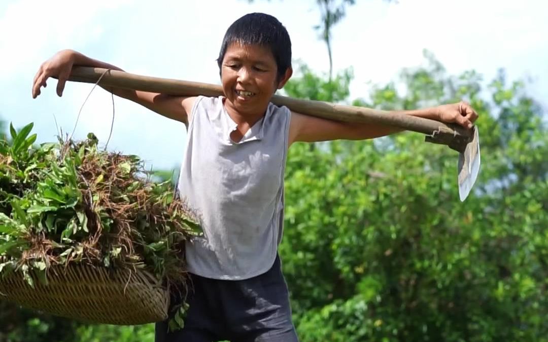
[[[461, 203], [458, 155], [419, 134], [293, 146], [280, 253], [302, 341], [548, 340], [541, 108], [503, 71], [484, 88], [473, 71], [452, 77], [426, 60], [353, 103], [470, 101], [483, 156], [476, 187]], [[317, 89], [341, 82], [301, 73], [291, 96], [329, 100]]]

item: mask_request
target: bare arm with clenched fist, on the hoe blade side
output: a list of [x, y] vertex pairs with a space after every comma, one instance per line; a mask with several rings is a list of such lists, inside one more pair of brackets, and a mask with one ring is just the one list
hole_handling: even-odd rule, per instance
[[[413, 115], [444, 123], [457, 123], [466, 129], [472, 128], [477, 113], [466, 102], [413, 111], [392, 111], [401, 115]], [[401, 132], [403, 129], [382, 124], [347, 123], [292, 112], [289, 126], [289, 143], [296, 141], [315, 142], [327, 140], [363, 140]]]

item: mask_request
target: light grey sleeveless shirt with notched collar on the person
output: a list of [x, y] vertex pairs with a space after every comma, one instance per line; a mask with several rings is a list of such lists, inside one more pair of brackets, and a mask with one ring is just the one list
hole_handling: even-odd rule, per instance
[[290, 111], [272, 103], [233, 142], [236, 123], [222, 96], [199, 96], [192, 108], [178, 192], [198, 212], [204, 237], [186, 243], [188, 270], [213, 279], [265, 273], [283, 230], [283, 179]]

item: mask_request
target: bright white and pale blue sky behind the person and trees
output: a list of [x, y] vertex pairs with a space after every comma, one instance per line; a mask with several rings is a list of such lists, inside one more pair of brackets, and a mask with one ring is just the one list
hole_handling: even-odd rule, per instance
[[[2, 0], [0, 2], [0, 117], [21, 127], [33, 121], [38, 142], [54, 141], [53, 114], [72, 131], [90, 84], [56, 80], [36, 100], [31, 83], [39, 65], [71, 48], [128, 72], [218, 83], [216, 56], [226, 28], [240, 16], [276, 16], [292, 38], [293, 56], [317, 72], [328, 71], [324, 44], [313, 26], [315, 0]], [[351, 97], [367, 96], [370, 82], [384, 83], [432, 51], [449, 73], [476, 69], [490, 80], [504, 67], [510, 79], [530, 78], [529, 92], [548, 103], [548, 2], [541, 0], [360, 0], [333, 31], [334, 70], [352, 66]], [[137, 154], [155, 169], [180, 163], [185, 127], [115, 98], [109, 149]], [[106, 143], [110, 95], [96, 88], [75, 138], [94, 132]]]

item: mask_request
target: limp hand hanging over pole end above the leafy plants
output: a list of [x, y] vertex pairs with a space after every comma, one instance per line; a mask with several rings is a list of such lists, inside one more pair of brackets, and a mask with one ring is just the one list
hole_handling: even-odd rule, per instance
[[40, 88], [42, 88], [42, 86], [44, 88], [46, 87], [47, 84], [45, 82], [50, 77], [58, 79], [57, 95], [61, 96], [63, 94], [63, 89], [65, 89], [65, 82], [72, 71], [75, 56], [75, 51], [61, 50], [49, 60], [43, 62], [33, 80], [32, 98], [36, 98], [40, 95]]

